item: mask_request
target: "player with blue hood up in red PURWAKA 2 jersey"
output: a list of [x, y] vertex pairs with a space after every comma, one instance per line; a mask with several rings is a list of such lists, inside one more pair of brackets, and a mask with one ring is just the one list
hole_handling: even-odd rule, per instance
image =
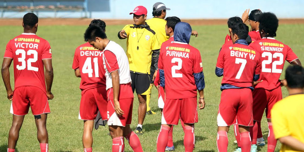
[[164, 87], [166, 101], [157, 137], [157, 151], [165, 151], [168, 134], [179, 118], [185, 123], [185, 151], [194, 148], [194, 123], [198, 122], [197, 90], [200, 94], [199, 109], [205, 106], [204, 73], [199, 50], [189, 45], [191, 27], [179, 22], [174, 29], [174, 42], [163, 44], [158, 61], [160, 86]]

